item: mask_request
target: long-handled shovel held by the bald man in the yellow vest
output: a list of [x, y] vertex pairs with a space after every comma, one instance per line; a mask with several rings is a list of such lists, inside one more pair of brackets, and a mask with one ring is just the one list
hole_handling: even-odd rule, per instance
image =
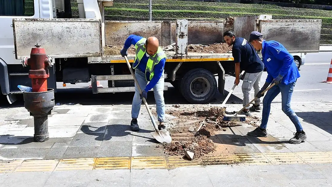
[[[125, 59], [127, 65], [128, 65], [128, 68], [129, 68], [129, 70], [130, 70], [130, 73], [131, 73], [131, 75], [132, 75], [132, 78], [134, 79], [135, 84], [137, 85], [137, 88], [138, 88], [139, 93], [142, 94], [142, 89], [140, 88], [140, 86], [139, 86], [139, 84], [138, 84], [138, 82], [137, 82], [137, 79], [136, 79], [136, 77], [135, 77], [135, 75], [134, 75], [134, 72], [133, 72], [132, 69], [131, 69], [131, 65], [129, 64], [129, 61], [128, 61], [127, 56], [124, 56], [124, 59]], [[152, 116], [152, 113], [151, 113], [151, 110], [150, 110], [149, 105], [147, 104], [147, 102], [146, 102], [146, 100], [145, 100], [144, 97], [143, 97], [142, 100], [143, 100], [143, 102], [144, 102], [144, 104], [145, 104], [145, 107], [146, 107], [147, 112], [149, 113], [149, 116], [150, 116], [151, 121], [152, 121], [152, 124], [153, 124], [153, 128], [154, 128], [154, 130], [155, 130], [155, 132], [151, 132], [153, 138], [155, 138], [155, 139], [156, 139], [157, 141], [159, 141], [160, 143], [163, 143], [163, 142], [170, 143], [170, 142], [172, 141], [172, 138], [171, 138], [171, 136], [169, 135], [169, 132], [166, 131], [166, 129], [163, 129], [163, 130], [160, 130], [160, 131], [158, 130], [158, 127], [157, 127], [157, 125], [156, 125], [156, 122], [154, 121], [154, 118], [153, 118], [153, 116]]]

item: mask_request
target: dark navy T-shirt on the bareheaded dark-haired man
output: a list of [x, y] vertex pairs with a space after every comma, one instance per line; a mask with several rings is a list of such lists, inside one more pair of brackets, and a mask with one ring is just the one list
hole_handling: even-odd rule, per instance
[[233, 47], [232, 56], [235, 63], [240, 63], [240, 69], [246, 73], [258, 73], [264, 70], [264, 64], [258, 56], [256, 50], [246, 39], [236, 37]]

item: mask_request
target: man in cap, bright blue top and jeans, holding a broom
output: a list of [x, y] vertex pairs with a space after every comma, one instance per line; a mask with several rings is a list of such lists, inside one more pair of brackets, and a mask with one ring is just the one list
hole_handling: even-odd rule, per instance
[[263, 35], [257, 31], [250, 34], [249, 42], [256, 50], [262, 51], [263, 62], [267, 70], [268, 76], [261, 91], [256, 95], [258, 98], [262, 97], [262, 91], [265, 90], [272, 82], [276, 83], [263, 99], [263, 112], [261, 126], [254, 131], [248, 132], [249, 136], [266, 137], [266, 127], [270, 115], [271, 103], [273, 99], [281, 93], [282, 110], [290, 118], [295, 125], [296, 133], [290, 139], [290, 143], [297, 144], [306, 140], [307, 136], [298, 121], [298, 117], [290, 108], [290, 100], [293, 93], [296, 80], [300, 77], [295, 63], [293, 63], [293, 56], [287, 49], [276, 41], [265, 41]]

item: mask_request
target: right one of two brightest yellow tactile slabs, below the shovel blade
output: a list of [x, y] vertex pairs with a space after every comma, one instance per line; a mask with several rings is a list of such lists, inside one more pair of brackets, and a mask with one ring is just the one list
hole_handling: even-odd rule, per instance
[[131, 157], [131, 169], [167, 168], [164, 156]]

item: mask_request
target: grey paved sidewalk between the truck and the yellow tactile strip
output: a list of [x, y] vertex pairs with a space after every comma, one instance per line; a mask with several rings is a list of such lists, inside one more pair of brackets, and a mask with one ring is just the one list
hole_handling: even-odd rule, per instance
[[[281, 103], [272, 106], [267, 138], [246, 136], [258, 123], [228, 128], [211, 137], [222, 147], [220, 154], [332, 151], [332, 112], [328, 108], [332, 103], [292, 104], [308, 137], [296, 145], [288, 143], [295, 128]], [[227, 105], [227, 110], [240, 108], [239, 104]], [[153, 127], [146, 109], [141, 108], [139, 132], [130, 131], [130, 111], [130, 105], [55, 106], [48, 118], [50, 140], [33, 142], [29, 112], [24, 107], [0, 109], [0, 160], [164, 156], [150, 135]], [[260, 112], [253, 115], [261, 117]]]

